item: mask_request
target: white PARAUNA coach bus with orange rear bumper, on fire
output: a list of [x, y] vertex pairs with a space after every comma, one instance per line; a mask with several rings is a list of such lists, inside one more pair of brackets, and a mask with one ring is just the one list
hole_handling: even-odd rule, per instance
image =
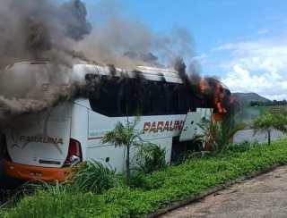
[[[29, 69], [35, 64], [13, 67]], [[164, 147], [170, 163], [181, 141], [198, 131], [196, 122], [211, 115], [213, 105], [195, 96], [176, 71], [151, 67], [122, 71], [89, 64], [75, 64], [73, 71], [90, 84], [87, 93], [45, 112], [22, 116], [21, 124], [4, 130], [1, 144], [9, 177], [65, 180], [72, 164], [91, 159], [124, 172], [125, 149], [104, 145], [100, 139], [117, 122], [132, 120], [138, 113], [137, 129], [143, 130], [143, 139]]]

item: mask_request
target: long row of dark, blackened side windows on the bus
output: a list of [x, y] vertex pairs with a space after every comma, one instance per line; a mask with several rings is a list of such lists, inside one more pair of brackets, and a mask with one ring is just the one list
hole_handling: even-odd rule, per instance
[[109, 117], [185, 114], [201, 102], [184, 84], [108, 76], [93, 80], [91, 109]]

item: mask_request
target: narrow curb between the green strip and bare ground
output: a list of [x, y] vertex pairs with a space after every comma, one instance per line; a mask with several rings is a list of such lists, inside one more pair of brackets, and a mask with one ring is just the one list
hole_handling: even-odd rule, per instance
[[192, 202], [195, 202], [197, 200], [200, 200], [204, 197], [207, 197], [211, 194], [214, 194], [222, 189], [226, 189], [227, 187], [230, 187], [236, 183], [239, 183], [241, 181], [244, 181], [244, 180], [250, 180], [252, 178], [255, 178], [261, 174], [265, 174], [266, 172], [272, 172], [274, 171], [277, 167], [279, 166], [282, 166], [284, 164], [274, 164], [272, 165], [271, 167], [268, 167], [264, 170], [260, 170], [260, 171], [257, 171], [257, 172], [251, 172], [250, 174], [246, 175], [246, 176], [242, 176], [242, 177], [239, 177], [239, 179], [235, 179], [235, 180], [230, 180], [230, 181], [227, 181], [225, 182], [224, 184], [222, 185], [219, 185], [219, 186], [215, 186], [213, 188], [210, 188], [210, 189], [207, 189], [207, 190], [204, 190], [203, 192], [199, 193], [199, 194], [195, 194], [195, 195], [191, 195], [183, 200], [179, 200], [179, 201], [176, 201], [176, 202], [173, 202], [173, 203], [170, 203], [170, 205], [164, 207], [164, 208], [161, 208], [159, 210], [157, 210], [156, 212], [152, 213], [152, 214], [148, 214], [146, 215], [147, 218], [153, 218], [153, 217], [157, 217], [159, 215], [162, 215], [162, 214], [166, 214], [172, 210], [175, 210], [179, 207], [182, 207], [184, 205], [188, 205]]

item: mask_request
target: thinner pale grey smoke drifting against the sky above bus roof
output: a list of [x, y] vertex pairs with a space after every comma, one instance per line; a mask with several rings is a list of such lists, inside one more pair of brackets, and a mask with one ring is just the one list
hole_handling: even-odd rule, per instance
[[101, 13], [93, 22], [91, 34], [77, 43], [74, 50], [97, 63], [112, 63], [129, 70], [138, 65], [173, 67], [178, 55], [193, 56], [192, 37], [186, 29], [154, 32], [115, 5], [113, 1], [96, 4]]

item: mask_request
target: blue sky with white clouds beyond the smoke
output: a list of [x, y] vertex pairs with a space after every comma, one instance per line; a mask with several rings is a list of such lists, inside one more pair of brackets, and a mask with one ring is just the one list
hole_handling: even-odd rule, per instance
[[[91, 21], [98, 0], [84, 0]], [[187, 29], [201, 74], [216, 76], [232, 92], [287, 99], [287, 1], [118, 0], [129, 19], [152, 31]], [[109, 12], [108, 12], [109, 13]], [[190, 60], [186, 60], [187, 63]]]

